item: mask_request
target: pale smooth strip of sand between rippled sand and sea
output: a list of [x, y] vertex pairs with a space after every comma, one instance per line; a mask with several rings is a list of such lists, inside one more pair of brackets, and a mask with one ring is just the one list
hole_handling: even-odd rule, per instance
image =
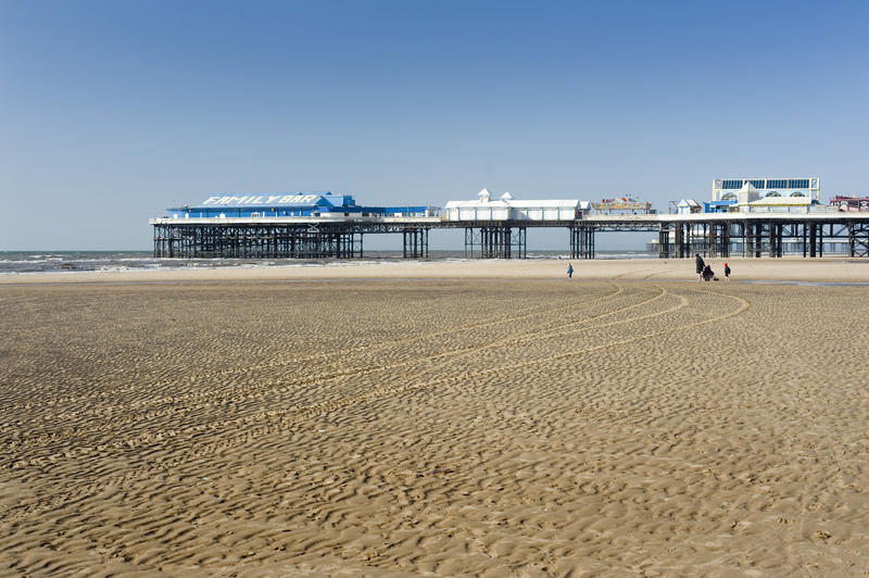
[[[723, 263], [732, 281], [869, 284], [869, 261], [861, 257], [707, 259], [721, 279]], [[583, 279], [695, 281], [692, 259], [618, 260], [438, 260], [406, 262], [329, 262], [268, 266], [214, 266], [177, 269], [34, 272], [0, 275], [0, 286], [58, 284], [142, 284], [196, 281], [282, 281], [336, 279], [565, 279], [567, 263], [574, 281]]]

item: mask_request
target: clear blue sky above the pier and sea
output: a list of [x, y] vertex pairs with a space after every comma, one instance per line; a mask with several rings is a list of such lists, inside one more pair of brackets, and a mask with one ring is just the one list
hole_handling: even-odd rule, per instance
[[868, 103], [869, 2], [0, 0], [0, 250], [215, 192], [869, 193]]

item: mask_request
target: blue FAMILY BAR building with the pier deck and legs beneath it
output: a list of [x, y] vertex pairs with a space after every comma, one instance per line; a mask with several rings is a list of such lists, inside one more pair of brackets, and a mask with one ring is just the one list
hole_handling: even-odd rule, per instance
[[404, 255], [428, 256], [437, 208], [357, 205], [350, 194], [213, 194], [152, 218], [154, 256], [354, 259], [365, 234], [403, 234]]

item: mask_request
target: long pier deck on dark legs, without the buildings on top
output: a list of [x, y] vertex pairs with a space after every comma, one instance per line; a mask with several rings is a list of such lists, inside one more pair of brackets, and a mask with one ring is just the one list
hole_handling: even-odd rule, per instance
[[[528, 228], [563, 228], [572, 259], [594, 259], [597, 233], [648, 233], [660, 259], [780, 257], [797, 243], [805, 257], [824, 241], [869, 256], [869, 212], [578, 215], [570, 221], [450, 221], [445, 216], [250, 216], [152, 218], [156, 257], [358, 259], [365, 235], [402, 235], [406, 259], [426, 259], [432, 230], [464, 229], [468, 259], [522, 259]], [[733, 248], [739, 250], [734, 251]], [[797, 253], [798, 254], [798, 253]]]

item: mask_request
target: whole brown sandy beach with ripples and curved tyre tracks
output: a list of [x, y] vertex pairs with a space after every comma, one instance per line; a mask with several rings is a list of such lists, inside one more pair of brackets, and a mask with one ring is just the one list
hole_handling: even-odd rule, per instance
[[866, 576], [869, 262], [728, 262], [7, 276], [0, 574]]

